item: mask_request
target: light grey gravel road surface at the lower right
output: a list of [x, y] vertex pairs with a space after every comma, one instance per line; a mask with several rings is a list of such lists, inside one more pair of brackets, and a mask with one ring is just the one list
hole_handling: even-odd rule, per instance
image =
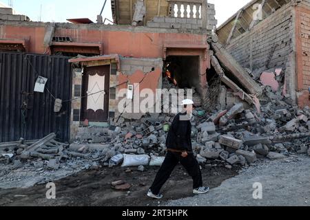
[[[254, 183], [262, 199], [254, 199]], [[257, 191], [256, 191], [257, 192]], [[258, 195], [258, 194], [255, 194]], [[167, 206], [310, 206], [310, 157], [260, 162], [223, 181], [207, 195], [179, 199]]]

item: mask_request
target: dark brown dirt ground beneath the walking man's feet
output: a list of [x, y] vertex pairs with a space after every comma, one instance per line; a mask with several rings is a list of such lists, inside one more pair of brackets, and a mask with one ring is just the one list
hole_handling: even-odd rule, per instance
[[[144, 172], [132, 168], [100, 168], [55, 181], [56, 199], [46, 199], [48, 188], [38, 185], [32, 188], [0, 189], [0, 206], [158, 206], [171, 199], [193, 197], [192, 178], [182, 166], [177, 166], [172, 177], [163, 187], [161, 202], [146, 197], [158, 168], [147, 167]], [[238, 167], [229, 170], [223, 167], [203, 169], [205, 186], [216, 188], [228, 178], [238, 174]], [[123, 179], [131, 184], [130, 195], [126, 191], [116, 191], [111, 182]]]

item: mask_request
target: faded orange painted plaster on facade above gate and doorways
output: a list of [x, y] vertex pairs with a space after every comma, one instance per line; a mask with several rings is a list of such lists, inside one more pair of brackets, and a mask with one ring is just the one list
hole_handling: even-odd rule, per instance
[[[32, 27], [35, 26], [35, 27]], [[0, 38], [2, 39], [27, 39], [29, 40], [28, 52], [38, 54], [49, 54], [48, 47], [43, 45], [45, 38], [45, 26], [31, 23], [18, 25], [0, 26]], [[62, 25], [61, 27], [63, 27]], [[1, 28], [2, 27], [2, 28]], [[100, 30], [87, 28], [87, 25], [68, 25], [68, 28], [57, 27], [54, 36], [71, 37], [76, 43], [102, 43], [103, 54], [118, 54], [121, 56], [132, 56], [136, 58], [164, 58], [164, 45], [207, 45], [207, 36], [203, 34], [186, 33], [159, 33], [159, 32], [134, 32], [116, 29]], [[206, 50], [197, 49], [175, 49], [177, 55], [199, 55], [200, 56], [200, 83], [207, 84], [205, 76], [206, 69], [209, 69], [210, 62]], [[207, 56], [207, 57], [206, 57]], [[156, 70], [158, 72], [158, 70]], [[132, 83], [138, 83], [141, 74], [134, 74]], [[152, 78], [146, 80], [150, 85], [143, 83], [143, 88], [157, 88], [160, 74], [151, 74]], [[122, 83], [123, 77], [118, 78]]]

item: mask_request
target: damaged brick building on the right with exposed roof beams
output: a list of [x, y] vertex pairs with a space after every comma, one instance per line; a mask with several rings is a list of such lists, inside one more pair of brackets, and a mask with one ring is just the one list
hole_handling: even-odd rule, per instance
[[309, 106], [310, 1], [251, 1], [217, 29], [242, 67], [299, 107]]

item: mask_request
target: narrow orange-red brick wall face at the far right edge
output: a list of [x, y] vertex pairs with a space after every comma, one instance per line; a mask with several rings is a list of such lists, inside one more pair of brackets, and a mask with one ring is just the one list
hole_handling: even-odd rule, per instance
[[296, 63], [298, 106], [310, 106], [310, 9], [296, 7]]

